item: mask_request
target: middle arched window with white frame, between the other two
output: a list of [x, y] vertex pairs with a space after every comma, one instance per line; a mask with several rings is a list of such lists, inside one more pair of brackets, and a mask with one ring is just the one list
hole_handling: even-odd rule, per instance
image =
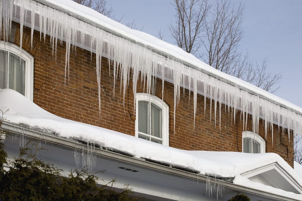
[[137, 93], [135, 136], [169, 146], [169, 106], [153, 95]]

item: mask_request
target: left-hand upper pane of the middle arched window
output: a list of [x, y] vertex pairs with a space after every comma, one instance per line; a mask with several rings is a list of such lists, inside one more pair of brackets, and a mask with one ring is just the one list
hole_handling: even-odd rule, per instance
[[[149, 134], [149, 102], [138, 102], [138, 132]], [[149, 139], [148, 139], [149, 140]]]

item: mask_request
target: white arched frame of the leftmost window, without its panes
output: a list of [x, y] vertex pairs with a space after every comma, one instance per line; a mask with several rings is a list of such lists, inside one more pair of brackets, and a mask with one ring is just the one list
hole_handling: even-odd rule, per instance
[[[10, 42], [0, 41], [0, 50], [10, 52], [20, 57], [20, 47]], [[34, 100], [34, 57], [28, 52], [21, 49], [21, 59], [25, 61], [25, 78], [24, 78], [24, 96], [33, 101]]]

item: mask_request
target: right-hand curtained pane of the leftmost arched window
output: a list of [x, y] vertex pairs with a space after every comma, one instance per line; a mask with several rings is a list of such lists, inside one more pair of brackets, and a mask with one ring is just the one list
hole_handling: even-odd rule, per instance
[[25, 61], [14, 54], [9, 54], [8, 88], [25, 94]]

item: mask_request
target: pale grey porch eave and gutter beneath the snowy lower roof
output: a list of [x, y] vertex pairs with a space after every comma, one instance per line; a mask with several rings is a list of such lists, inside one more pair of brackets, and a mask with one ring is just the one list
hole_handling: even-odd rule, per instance
[[[93, 156], [95, 168], [92, 171], [106, 170], [105, 174], [96, 175], [104, 179], [104, 181], [99, 181], [99, 184], [106, 184], [116, 178], [116, 183], [113, 185], [115, 189], [123, 188], [124, 184], [129, 183], [134, 195], [144, 196], [146, 200], [169, 201], [189, 198], [196, 201], [201, 199], [223, 201], [237, 193], [244, 193], [251, 200], [299, 200], [299, 198], [288, 197], [286, 193], [277, 195], [104, 149], [91, 149], [87, 144], [84, 145], [75, 140], [48, 135], [8, 122], [3, 123], [1, 128], [10, 133], [5, 139], [9, 157], [18, 155], [19, 146], [31, 140], [32, 143], [45, 148], [38, 152], [39, 159], [53, 163], [56, 167], [63, 169], [63, 174], [67, 175], [70, 169], [81, 168], [82, 160], [87, 162], [87, 157]], [[75, 162], [76, 155], [84, 157], [77, 163]]]

